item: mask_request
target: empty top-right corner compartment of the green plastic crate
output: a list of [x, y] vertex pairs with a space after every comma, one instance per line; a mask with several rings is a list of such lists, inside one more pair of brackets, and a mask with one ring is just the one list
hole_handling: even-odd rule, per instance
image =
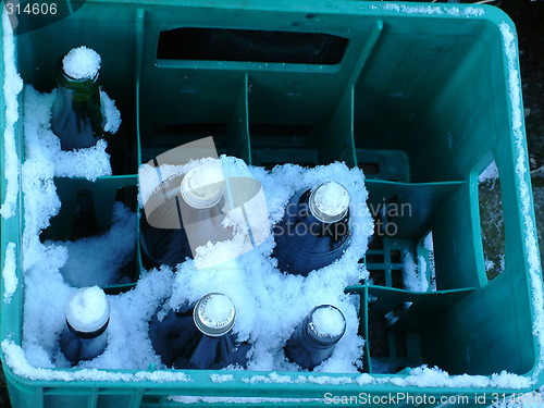
[[355, 88], [356, 150], [405, 152], [410, 182], [466, 180], [509, 126], [496, 115], [504, 82], [487, 69], [492, 27], [443, 23], [423, 42], [430, 21], [387, 25]]

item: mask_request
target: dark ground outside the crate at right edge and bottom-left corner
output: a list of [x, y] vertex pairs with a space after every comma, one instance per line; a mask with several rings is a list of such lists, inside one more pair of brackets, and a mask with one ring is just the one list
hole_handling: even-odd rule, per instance
[[[444, 1], [441, 1], [444, 2]], [[474, 2], [474, 1], [450, 1]], [[506, 11], [518, 28], [526, 126], [533, 171], [533, 196], [541, 258], [544, 259], [544, 1], [490, 2]], [[493, 226], [492, 226], [493, 227]], [[0, 372], [0, 408], [9, 408], [8, 390]]]

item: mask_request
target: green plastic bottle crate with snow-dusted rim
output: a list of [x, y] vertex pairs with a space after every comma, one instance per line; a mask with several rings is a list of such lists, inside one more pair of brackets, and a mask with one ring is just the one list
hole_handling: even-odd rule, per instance
[[[49, 91], [59, 55], [79, 45], [102, 55], [100, 81], [122, 112], [122, 137], [133, 160], [126, 174], [101, 177], [89, 187], [101, 197], [100, 213], [109, 213], [116, 189], [137, 185], [137, 163], [210, 134], [220, 153], [249, 164], [338, 160], [358, 165], [368, 176], [369, 205], [407, 202], [413, 212], [397, 217], [398, 233], [373, 240], [361, 260], [374, 284], [346, 288], [360, 304], [359, 330], [367, 339], [363, 373], [277, 373], [283, 381], [274, 382], [274, 373], [222, 371], [233, 381], [220, 383], [210, 378], [217, 372], [186, 370], [190, 381], [161, 382], [161, 373], [150, 369], [139, 378], [135, 371], [108, 370], [126, 375], [124, 381], [44, 381], [17, 375], [2, 353], [14, 407], [183, 405], [171, 395], [281, 397], [295, 399], [238, 399], [237, 405], [316, 406], [326, 403], [325, 393], [462, 395], [472, 404], [457, 406], [475, 406], [475, 394], [486, 393], [490, 404], [492, 393], [520, 393], [542, 383], [544, 341], [533, 330], [543, 321], [542, 276], [541, 265], [528, 259], [537, 257], [537, 248], [530, 193], [526, 196], [530, 178], [515, 28], [508, 16], [492, 7], [341, 0], [90, 0], [62, 5], [65, 18], [16, 37], [17, 69], [25, 83]], [[274, 32], [272, 41], [283, 39], [269, 61], [259, 50], [244, 53], [248, 36], [262, 36], [262, 30]], [[242, 57], [218, 61], [221, 49], [205, 55], [199, 47], [173, 46], [210, 33], [234, 41]], [[309, 51], [292, 52], [289, 45], [306, 45]], [[319, 45], [319, 52], [312, 52]], [[0, 119], [3, 127], [3, 109]], [[23, 127], [15, 127], [22, 158]], [[0, 153], [4, 162], [3, 144]], [[506, 258], [500, 275], [487, 282], [478, 175], [493, 158], [500, 172]], [[3, 202], [3, 176], [0, 182]], [[45, 232], [48, 237], [65, 234], [73, 213], [70, 191], [79, 184], [90, 183], [57, 180], [61, 197], [67, 198], [60, 221]], [[20, 195], [18, 205], [21, 200]], [[14, 242], [17, 265], [23, 222], [18, 206], [15, 217], [1, 224], [2, 258]], [[398, 284], [399, 255], [408, 251], [430, 261], [422, 240], [431, 231], [436, 290], [407, 290]], [[136, 259], [134, 279], [139, 264]], [[1, 339], [21, 345], [24, 282], [18, 268], [16, 273], [18, 287], [11, 302], [2, 302]], [[411, 302], [406, 312], [399, 308], [405, 302]], [[390, 311], [398, 317], [393, 325], [384, 323]], [[394, 370], [380, 374], [376, 362]], [[423, 363], [470, 376], [462, 387], [448, 382], [426, 386], [411, 372]], [[527, 386], [493, 382], [492, 374], [504, 370]], [[271, 381], [248, 384], [257, 374]], [[441, 400], [424, 406], [438, 405], [456, 406]]]

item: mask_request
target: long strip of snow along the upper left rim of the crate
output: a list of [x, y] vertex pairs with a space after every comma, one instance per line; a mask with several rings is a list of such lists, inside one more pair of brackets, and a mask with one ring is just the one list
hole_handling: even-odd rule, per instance
[[3, 26], [3, 101], [5, 103], [5, 127], [3, 131], [4, 162], [2, 173], [5, 178], [5, 199], [0, 207], [3, 219], [15, 214], [18, 197], [20, 164], [15, 147], [15, 123], [18, 120], [17, 95], [23, 89], [23, 81], [15, 67], [15, 42], [7, 9], [2, 12]]

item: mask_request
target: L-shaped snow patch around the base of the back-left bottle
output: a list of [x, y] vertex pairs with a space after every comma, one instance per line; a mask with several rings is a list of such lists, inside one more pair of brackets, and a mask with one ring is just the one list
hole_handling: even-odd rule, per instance
[[[33, 166], [47, 166], [58, 177], [84, 177], [95, 181], [111, 175], [110, 156], [103, 139], [87, 149], [63, 151], [59, 138], [51, 132], [49, 122], [54, 91], [40, 94], [30, 85], [25, 86], [25, 162]], [[38, 164], [39, 163], [39, 164]]]

